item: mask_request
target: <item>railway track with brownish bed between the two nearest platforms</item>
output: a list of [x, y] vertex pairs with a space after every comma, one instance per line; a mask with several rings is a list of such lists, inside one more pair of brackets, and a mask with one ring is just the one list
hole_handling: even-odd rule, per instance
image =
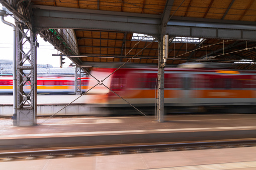
[[64, 148], [44, 150], [8, 151], [0, 153], [1, 161], [18, 161], [33, 159], [51, 159], [82, 156], [100, 156], [117, 154], [153, 153], [167, 151], [185, 151], [202, 149], [221, 149], [235, 147], [253, 147], [256, 140], [213, 141], [194, 143], [148, 144], [128, 146], [104, 146], [90, 148]]

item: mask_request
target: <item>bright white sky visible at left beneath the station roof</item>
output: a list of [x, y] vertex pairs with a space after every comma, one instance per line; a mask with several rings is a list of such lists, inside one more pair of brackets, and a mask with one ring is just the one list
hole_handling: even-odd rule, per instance
[[[2, 5], [0, 4], [0, 10]], [[11, 16], [5, 17], [5, 20], [14, 24], [14, 19]], [[37, 48], [37, 64], [51, 64], [53, 67], [59, 67], [60, 59], [58, 56], [52, 56], [52, 54], [58, 54], [58, 51], [54, 47], [43, 40], [39, 35], [37, 37], [39, 48]], [[28, 45], [27, 45], [28, 46]], [[24, 46], [26, 48], [26, 44]], [[0, 59], [1, 60], [13, 60], [13, 28], [4, 24], [0, 20]], [[68, 58], [64, 60], [63, 67], [68, 67], [71, 62]]]

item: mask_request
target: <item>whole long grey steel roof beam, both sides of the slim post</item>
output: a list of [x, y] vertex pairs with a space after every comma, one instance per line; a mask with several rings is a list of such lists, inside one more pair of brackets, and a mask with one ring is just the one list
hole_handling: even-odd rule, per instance
[[[37, 30], [49, 28], [112, 30], [147, 35], [159, 35], [161, 16], [84, 10], [62, 7], [32, 6], [33, 26]], [[145, 29], [147, 28], [147, 29]], [[256, 40], [256, 23], [217, 19], [173, 16], [166, 26], [166, 34], [180, 37]]]

